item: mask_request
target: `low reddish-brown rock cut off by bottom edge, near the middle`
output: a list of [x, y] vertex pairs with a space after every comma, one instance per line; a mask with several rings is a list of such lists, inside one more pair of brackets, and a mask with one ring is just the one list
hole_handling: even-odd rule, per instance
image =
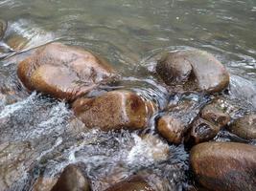
[[127, 180], [120, 181], [105, 191], [153, 191], [146, 180], [139, 176], [132, 176]]

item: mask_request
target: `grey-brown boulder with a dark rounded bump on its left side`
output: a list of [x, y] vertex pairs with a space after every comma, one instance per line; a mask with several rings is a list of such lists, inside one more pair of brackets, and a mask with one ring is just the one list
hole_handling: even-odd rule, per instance
[[156, 72], [170, 86], [181, 85], [185, 91], [221, 92], [229, 84], [229, 74], [212, 54], [186, 50], [164, 55]]

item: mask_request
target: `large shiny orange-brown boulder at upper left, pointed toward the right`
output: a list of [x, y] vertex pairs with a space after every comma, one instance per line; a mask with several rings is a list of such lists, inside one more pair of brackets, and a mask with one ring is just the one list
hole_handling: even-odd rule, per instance
[[72, 99], [88, 93], [114, 71], [92, 53], [51, 43], [20, 62], [17, 74], [30, 91]]

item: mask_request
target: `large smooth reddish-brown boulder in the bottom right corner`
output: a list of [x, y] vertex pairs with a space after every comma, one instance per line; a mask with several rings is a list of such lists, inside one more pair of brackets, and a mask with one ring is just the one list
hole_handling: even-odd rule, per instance
[[209, 190], [256, 190], [256, 147], [206, 142], [193, 147], [190, 162], [198, 182]]

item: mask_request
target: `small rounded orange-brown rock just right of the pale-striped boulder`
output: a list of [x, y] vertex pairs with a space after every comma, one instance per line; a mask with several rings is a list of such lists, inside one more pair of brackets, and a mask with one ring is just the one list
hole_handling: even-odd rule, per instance
[[163, 116], [157, 122], [157, 131], [169, 142], [180, 144], [183, 141], [185, 126], [175, 117]]

